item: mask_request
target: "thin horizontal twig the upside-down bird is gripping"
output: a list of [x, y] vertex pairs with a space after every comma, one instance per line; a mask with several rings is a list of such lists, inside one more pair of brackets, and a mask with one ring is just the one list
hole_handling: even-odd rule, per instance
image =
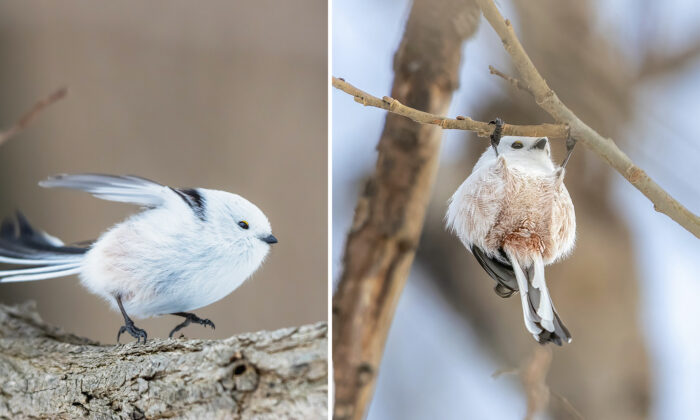
[[[469, 117], [447, 118], [408, 107], [396, 99], [385, 96], [382, 99], [364, 92], [343, 79], [333, 78], [333, 87], [355, 97], [355, 102], [364, 106], [385, 109], [394, 114], [410, 118], [417, 123], [434, 124], [444, 129], [474, 131], [480, 137], [488, 137], [493, 132], [493, 125], [476, 121]], [[508, 136], [566, 138], [569, 130], [561, 124], [512, 125], [503, 126], [503, 134]]]

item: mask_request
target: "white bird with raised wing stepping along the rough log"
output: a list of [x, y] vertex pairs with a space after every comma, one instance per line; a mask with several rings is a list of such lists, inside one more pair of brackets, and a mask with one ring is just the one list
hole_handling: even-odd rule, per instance
[[88, 246], [66, 246], [36, 230], [17, 214], [0, 229], [0, 263], [31, 266], [0, 271], [0, 284], [80, 276], [81, 283], [124, 317], [117, 341], [128, 332], [146, 342], [147, 333], [130, 316], [172, 314], [185, 318], [170, 336], [191, 322], [190, 313], [238, 288], [277, 243], [260, 209], [224, 191], [178, 189], [136, 176], [58, 175], [39, 183], [86, 191], [104, 200], [146, 209], [103, 233]]

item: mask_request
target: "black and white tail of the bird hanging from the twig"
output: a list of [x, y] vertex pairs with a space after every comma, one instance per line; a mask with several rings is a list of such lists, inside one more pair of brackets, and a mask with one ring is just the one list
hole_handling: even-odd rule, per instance
[[563, 343], [571, 342], [571, 334], [561, 322], [552, 298], [549, 296], [547, 283], [544, 280], [542, 256], [535, 256], [532, 266], [527, 270], [520, 267], [518, 260], [512, 254], [508, 253], [508, 259], [513, 266], [518, 283], [527, 330], [542, 344], [552, 342], [561, 346]]

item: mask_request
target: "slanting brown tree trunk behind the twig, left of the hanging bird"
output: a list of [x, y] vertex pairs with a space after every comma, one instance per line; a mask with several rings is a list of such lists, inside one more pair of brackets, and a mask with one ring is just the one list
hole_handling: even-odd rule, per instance
[[[462, 44], [475, 33], [471, 0], [416, 0], [394, 57], [392, 98], [444, 115]], [[375, 172], [355, 208], [333, 299], [336, 419], [364, 417], [386, 336], [423, 228], [442, 130], [387, 115]]]

